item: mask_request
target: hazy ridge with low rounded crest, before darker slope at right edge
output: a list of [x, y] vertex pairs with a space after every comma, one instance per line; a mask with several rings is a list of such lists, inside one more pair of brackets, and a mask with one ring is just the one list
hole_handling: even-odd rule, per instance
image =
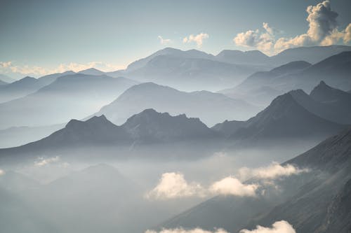
[[311, 64], [308, 62], [298, 61], [284, 64], [270, 71], [253, 73], [236, 87], [222, 90], [220, 93], [266, 106], [279, 94], [283, 94], [279, 87], [273, 87], [280, 77], [302, 71], [309, 66]]

